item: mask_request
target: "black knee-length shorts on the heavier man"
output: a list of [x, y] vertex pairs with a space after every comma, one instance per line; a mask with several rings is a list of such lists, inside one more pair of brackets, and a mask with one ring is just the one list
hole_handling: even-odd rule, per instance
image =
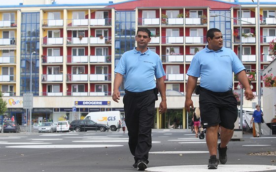
[[202, 88], [199, 105], [204, 128], [219, 124], [224, 128], [234, 129], [238, 118], [238, 102], [232, 91], [215, 93]]

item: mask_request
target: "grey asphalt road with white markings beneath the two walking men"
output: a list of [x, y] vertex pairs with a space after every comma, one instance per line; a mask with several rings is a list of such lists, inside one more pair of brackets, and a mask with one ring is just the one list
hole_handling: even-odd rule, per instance
[[[205, 140], [190, 130], [154, 129], [149, 172], [209, 172]], [[219, 172], [275, 172], [276, 156], [250, 153], [276, 151], [276, 135], [228, 144], [228, 162]], [[1, 172], [133, 172], [128, 135], [120, 132], [0, 133]]]

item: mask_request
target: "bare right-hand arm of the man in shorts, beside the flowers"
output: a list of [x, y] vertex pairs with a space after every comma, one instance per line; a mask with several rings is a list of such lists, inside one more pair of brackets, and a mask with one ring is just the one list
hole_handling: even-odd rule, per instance
[[249, 85], [248, 78], [246, 76], [245, 71], [242, 70], [241, 72], [237, 73], [236, 75], [237, 75], [237, 78], [238, 78], [239, 82], [245, 88], [244, 95], [245, 95], [246, 99], [247, 100], [252, 100], [253, 99], [253, 92], [252, 92], [251, 87]]

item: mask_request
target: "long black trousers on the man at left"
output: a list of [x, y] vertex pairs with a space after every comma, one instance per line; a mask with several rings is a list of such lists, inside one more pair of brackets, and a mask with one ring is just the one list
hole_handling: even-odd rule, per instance
[[135, 161], [144, 160], [148, 163], [151, 128], [155, 116], [155, 94], [133, 96], [126, 93], [123, 102], [130, 151]]

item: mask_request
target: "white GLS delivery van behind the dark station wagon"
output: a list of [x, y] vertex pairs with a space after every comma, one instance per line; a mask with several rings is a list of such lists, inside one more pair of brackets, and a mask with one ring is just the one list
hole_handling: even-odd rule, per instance
[[120, 111], [105, 111], [105, 112], [91, 112], [85, 116], [84, 119], [90, 119], [94, 122], [106, 124], [110, 127], [111, 131], [116, 131], [121, 128], [121, 120], [123, 116]]

